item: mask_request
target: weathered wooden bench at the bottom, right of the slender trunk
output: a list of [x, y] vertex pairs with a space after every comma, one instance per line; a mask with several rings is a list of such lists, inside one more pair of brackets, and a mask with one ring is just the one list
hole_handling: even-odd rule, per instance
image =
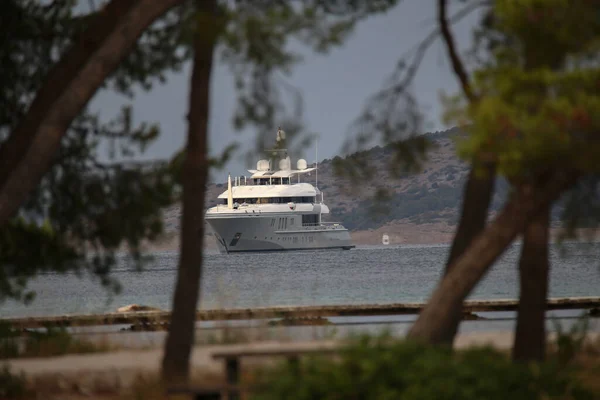
[[339, 344], [332, 342], [306, 343], [260, 343], [244, 346], [229, 346], [212, 353], [215, 360], [224, 361], [226, 383], [211, 387], [185, 386], [173, 387], [168, 394], [188, 394], [195, 400], [216, 400], [226, 398], [238, 400], [241, 393], [252, 391], [253, 387], [240, 386], [240, 367], [242, 358], [285, 357], [292, 366], [298, 366], [303, 355], [331, 355], [339, 351]]

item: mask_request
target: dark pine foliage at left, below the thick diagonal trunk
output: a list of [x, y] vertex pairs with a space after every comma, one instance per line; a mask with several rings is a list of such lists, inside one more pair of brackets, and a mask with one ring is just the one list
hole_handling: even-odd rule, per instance
[[173, 203], [177, 186], [174, 171], [163, 164], [98, 161], [100, 137], [121, 158], [131, 157], [135, 148], [143, 149], [156, 137], [156, 127], [131, 129], [131, 118], [125, 111], [117, 120], [100, 124], [95, 117], [82, 116], [72, 126], [54, 166], [20, 216], [0, 228], [0, 300], [31, 300], [28, 279], [49, 271], [89, 271], [118, 291], [109, 273], [115, 251], [125, 244], [136, 266], [142, 266], [140, 245], [161, 233], [162, 209]]

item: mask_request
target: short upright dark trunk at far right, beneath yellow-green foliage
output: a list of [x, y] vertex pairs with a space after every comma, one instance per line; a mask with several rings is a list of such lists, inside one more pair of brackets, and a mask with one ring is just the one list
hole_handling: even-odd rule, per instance
[[543, 361], [546, 354], [546, 297], [550, 207], [534, 218], [523, 233], [519, 262], [520, 300], [513, 359]]

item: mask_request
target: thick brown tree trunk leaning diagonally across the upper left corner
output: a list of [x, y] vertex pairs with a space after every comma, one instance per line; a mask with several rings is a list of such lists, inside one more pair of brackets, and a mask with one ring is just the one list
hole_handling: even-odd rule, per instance
[[[37, 126], [29, 145], [0, 187], [0, 226], [11, 218], [51, 167], [53, 156], [69, 125], [81, 113], [107, 76], [127, 56], [135, 42], [158, 17], [182, 0], [138, 0], [123, 15], [97, 51], [87, 57], [73, 79], [66, 82], [60, 96], [44, 107], [44, 112], [32, 109], [20, 126]], [[66, 63], [69, 64], [69, 63]], [[41, 93], [47, 93], [41, 90]], [[39, 119], [39, 123], [35, 123]], [[31, 124], [31, 125], [30, 125]], [[27, 133], [28, 135], [30, 133]]]

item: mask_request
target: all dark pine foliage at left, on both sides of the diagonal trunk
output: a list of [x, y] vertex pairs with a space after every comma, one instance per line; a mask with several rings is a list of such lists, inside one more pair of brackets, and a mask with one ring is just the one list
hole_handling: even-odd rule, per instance
[[[76, 3], [7, 0], [0, 5], [0, 146], [93, 17], [95, 11], [76, 13]], [[148, 29], [105, 88], [131, 96], [135, 85], [150, 89], [168, 71], [178, 70], [189, 59], [179, 27], [183, 11], [166, 14]], [[160, 234], [161, 210], [176, 198], [177, 171], [163, 164], [126, 163], [160, 134], [158, 126], [136, 127], [132, 120], [126, 106], [109, 120], [85, 110], [70, 126], [52, 168], [19, 216], [0, 227], [0, 301], [31, 300], [28, 279], [48, 271], [89, 271], [118, 290], [109, 272], [123, 245], [142, 265], [139, 246]], [[108, 162], [101, 161], [105, 150]]]

